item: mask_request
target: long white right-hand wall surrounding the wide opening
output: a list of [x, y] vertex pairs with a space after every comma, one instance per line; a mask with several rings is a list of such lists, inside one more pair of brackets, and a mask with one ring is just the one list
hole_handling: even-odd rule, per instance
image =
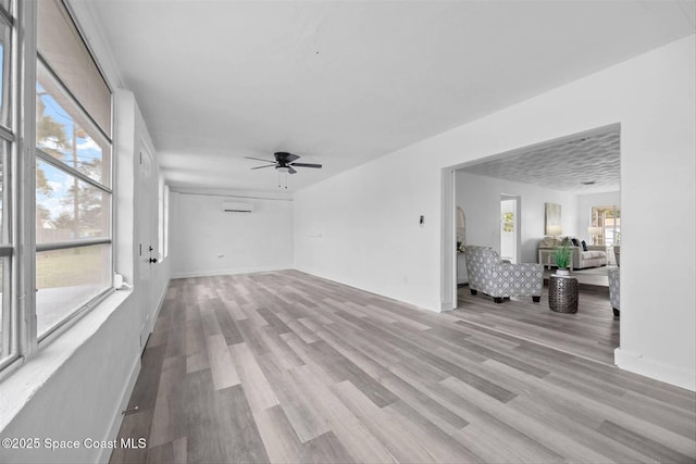
[[[696, 388], [695, 37], [298, 191], [296, 266], [438, 311], [449, 279], [440, 266], [442, 171], [620, 123], [625, 234], [617, 363]], [[667, 223], [683, 237], [679, 253], [664, 252]]]

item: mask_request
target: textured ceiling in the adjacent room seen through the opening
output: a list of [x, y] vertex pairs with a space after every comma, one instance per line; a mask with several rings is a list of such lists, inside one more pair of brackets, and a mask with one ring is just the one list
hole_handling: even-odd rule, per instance
[[614, 129], [529, 150], [515, 150], [510, 155], [460, 171], [555, 190], [587, 193], [617, 191], [621, 177], [620, 154], [620, 134]]

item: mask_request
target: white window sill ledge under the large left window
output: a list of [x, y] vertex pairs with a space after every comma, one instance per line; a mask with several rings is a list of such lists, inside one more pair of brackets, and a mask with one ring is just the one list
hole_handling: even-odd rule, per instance
[[22, 409], [58, 373], [71, 356], [89, 340], [109, 317], [130, 297], [129, 290], [119, 290], [107, 297], [76, 321], [61, 337], [41, 348], [29, 361], [10, 365], [0, 380], [0, 431], [14, 421]]

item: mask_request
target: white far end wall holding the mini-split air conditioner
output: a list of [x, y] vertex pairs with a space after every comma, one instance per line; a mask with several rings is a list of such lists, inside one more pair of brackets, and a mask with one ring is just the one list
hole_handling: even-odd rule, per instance
[[[172, 276], [236, 274], [293, 267], [293, 202], [172, 192]], [[223, 212], [223, 201], [252, 203]]]

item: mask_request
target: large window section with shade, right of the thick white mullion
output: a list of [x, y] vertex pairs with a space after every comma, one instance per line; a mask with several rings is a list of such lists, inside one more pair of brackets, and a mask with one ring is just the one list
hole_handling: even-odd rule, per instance
[[111, 288], [111, 92], [62, 2], [37, 2], [40, 340]]

